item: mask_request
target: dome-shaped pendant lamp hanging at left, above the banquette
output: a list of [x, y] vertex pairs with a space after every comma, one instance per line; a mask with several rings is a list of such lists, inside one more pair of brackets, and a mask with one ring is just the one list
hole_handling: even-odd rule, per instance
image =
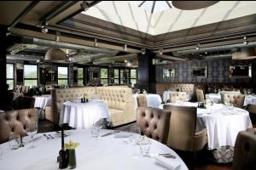
[[67, 60], [67, 54], [59, 48], [49, 48], [44, 59], [46, 61], [63, 62]]

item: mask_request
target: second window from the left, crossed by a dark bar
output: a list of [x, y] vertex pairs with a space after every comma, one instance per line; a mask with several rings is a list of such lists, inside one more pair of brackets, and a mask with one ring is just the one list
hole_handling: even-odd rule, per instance
[[24, 65], [24, 85], [38, 86], [38, 65]]

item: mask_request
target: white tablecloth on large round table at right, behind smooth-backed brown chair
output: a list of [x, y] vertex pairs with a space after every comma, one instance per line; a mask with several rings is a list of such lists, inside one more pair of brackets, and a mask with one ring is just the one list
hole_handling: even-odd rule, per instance
[[[197, 103], [180, 102], [170, 105], [197, 106]], [[160, 105], [160, 109], [163, 105]], [[252, 126], [248, 111], [223, 104], [207, 105], [207, 109], [197, 109], [196, 131], [207, 127], [208, 149], [221, 146], [235, 146], [236, 136], [242, 130]]]

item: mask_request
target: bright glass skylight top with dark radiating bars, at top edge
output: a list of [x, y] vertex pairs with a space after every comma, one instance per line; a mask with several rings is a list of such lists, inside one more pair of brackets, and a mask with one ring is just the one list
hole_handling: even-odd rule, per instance
[[146, 11], [151, 13], [159, 13], [172, 8], [169, 1], [129, 1], [129, 3], [140, 8], [144, 8]]

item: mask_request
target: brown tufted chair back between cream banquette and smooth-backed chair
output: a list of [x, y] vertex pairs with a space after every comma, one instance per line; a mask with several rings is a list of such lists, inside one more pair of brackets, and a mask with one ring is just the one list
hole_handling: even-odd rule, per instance
[[137, 127], [151, 139], [166, 144], [170, 124], [170, 111], [151, 107], [137, 108]]

